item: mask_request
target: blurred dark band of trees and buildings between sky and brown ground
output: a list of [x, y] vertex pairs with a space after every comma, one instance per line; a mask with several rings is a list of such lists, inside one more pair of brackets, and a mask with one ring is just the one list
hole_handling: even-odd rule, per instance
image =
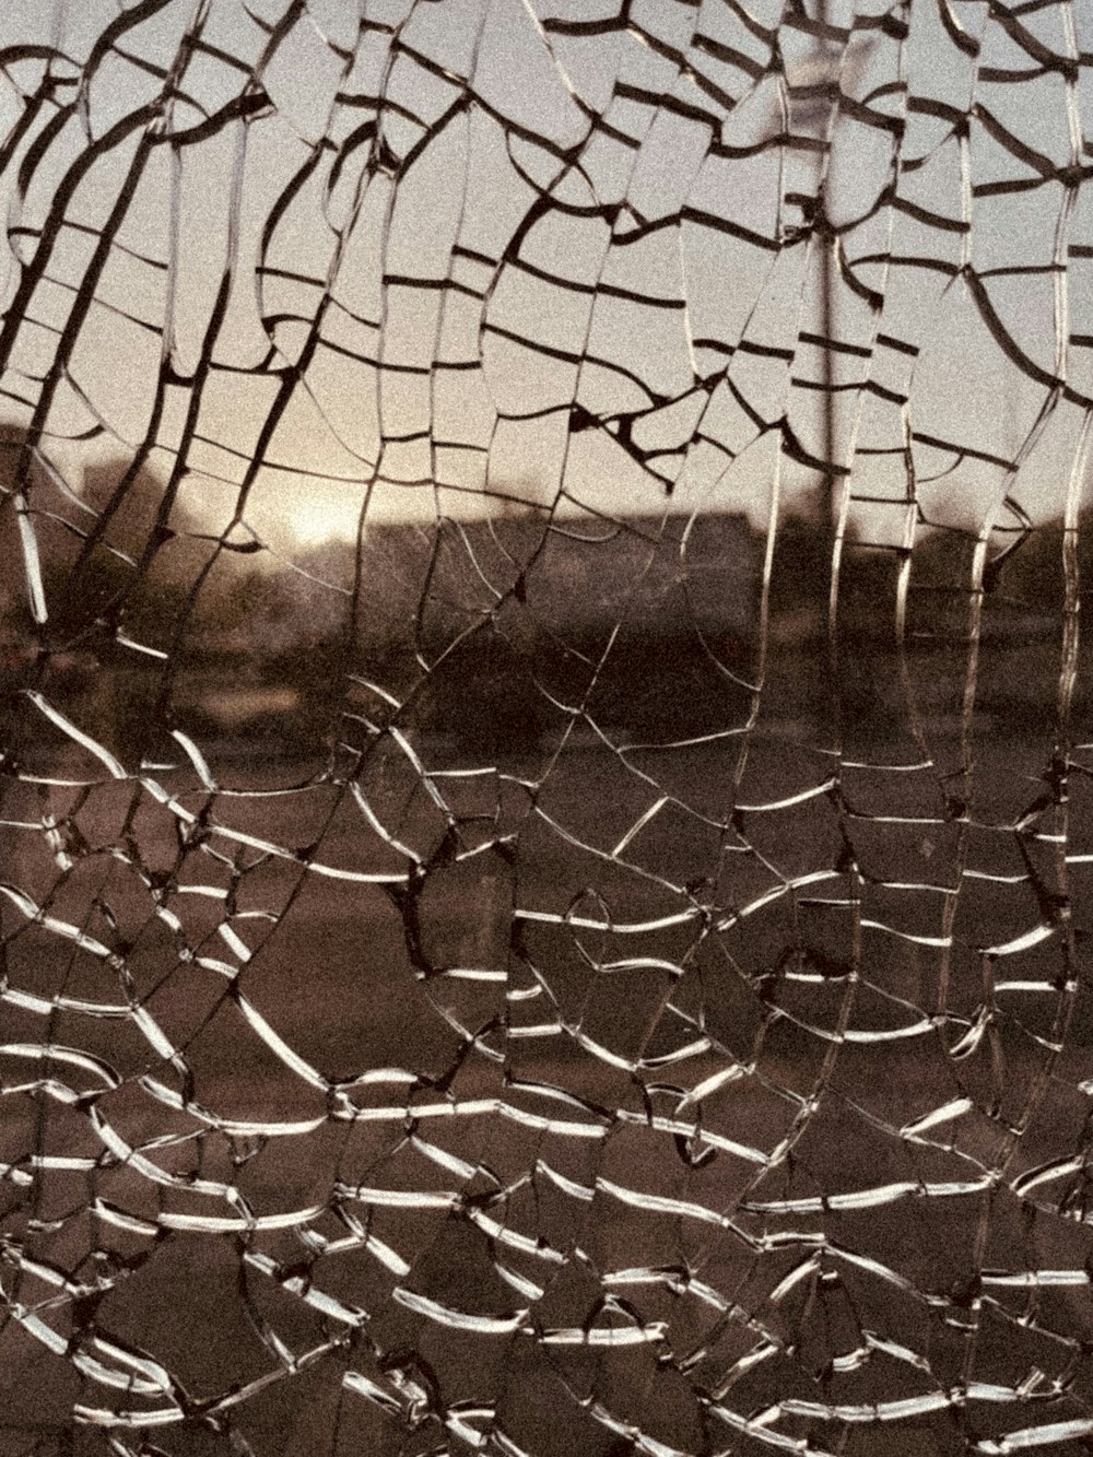
[[[9, 474], [22, 450], [9, 430]], [[79, 495], [29, 479], [32, 565], [15, 513], [3, 525], [25, 568], [0, 603], [6, 721], [41, 692], [127, 762], [171, 728], [313, 758], [399, 724], [494, 756], [573, 731], [670, 743], [758, 720], [800, 739], [838, 721], [854, 752], [952, 734], [966, 701], [981, 727], [1051, 737], [1093, 568], [1084, 517], [1070, 600], [1059, 520], [995, 532], [978, 576], [966, 532], [895, 548], [851, 530], [832, 613], [831, 535], [803, 516], [778, 522], [764, 593], [767, 532], [745, 513], [370, 523], [360, 543], [274, 554], [124, 459]], [[1078, 673], [1071, 710], [1086, 701]]]

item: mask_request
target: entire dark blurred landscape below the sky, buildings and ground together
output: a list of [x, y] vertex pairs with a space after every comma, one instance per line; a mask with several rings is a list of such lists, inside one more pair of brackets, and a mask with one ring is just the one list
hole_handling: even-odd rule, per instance
[[[25, 494], [4, 1052], [47, 1036], [76, 1101], [12, 1080], [0, 1163], [23, 1298], [96, 1260], [87, 1329], [171, 1371], [125, 1422], [165, 1410], [175, 1457], [222, 1451], [222, 1409], [283, 1457], [494, 1421], [568, 1457], [584, 1419], [555, 1407], [587, 1389], [644, 1450], [705, 1451], [737, 1412], [797, 1400], [806, 1429], [818, 1391], [866, 1390], [901, 1421], [841, 1451], [955, 1457], [944, 1390], [1025, 1419], [1062, 1356], [1014, 1345], [1007, 1281], [1086, 1250], [1084, 1174], [1052, 1173], [1093, 1085], [1084, 532], [994, 539], [978, 576], [963, 533], [909, 557], [851, 533], [832, 634], [831, 535], [800, 516], [764, 589], [743, 513], [275, 555], [124, 460]], [[809, 1335], [820, 1212], [841, 1339], [928, 1342], [925, 1372], [841, 1372]], [[1006, 1321], [963, 1346], [969, 1289]], [[1067, 1340], [1093, 1339], [1083, 1298], [1046, 1311]], [[651, 1352], [697, 1378], [650, 1386]], [[0, 1361], [4, 1457], [9, 1429], [101, 1450], [98, 1378], [58, 1380], [17, 1323]], [[351, 1381], [382, 1400], [344, 1412]], [[82, 1394], [105, 1415], [73, 1426]], [[584, 1421], [589, 1453], [634, 1450], [611, 1431]]]

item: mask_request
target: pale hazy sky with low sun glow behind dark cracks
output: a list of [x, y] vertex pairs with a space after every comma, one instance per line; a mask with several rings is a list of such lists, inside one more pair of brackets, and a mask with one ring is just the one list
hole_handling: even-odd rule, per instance
[[[855, 284], [834, 287], [851, 513], [902, 539], [908, 462], [930, 520], [1003, 520], [1007, 492], [1055, 513], [1087, 474], [1093, 124], [1089, 66], [1042, 58], [1089, 52], [1093, 22], [1051, 6], [1014, 32], [973, 0], [946, 26], [922, 0], [901, 36], [869, 23], [889, 10], [829, 0], [825, 41], [775, 0], [749, 23], [635, 0], [587, 34], [564, 23], [618, 6], [9, 0], [0, 414], [76, 488], [150, 441], [211, 529], [245, 491], [233, 529], [278, 549], [506, 498], [765, 520], [775, 484], [818, 491], [793, 456], [823, 441], [802, 203], [823, 178]], [[832, 76], [838, 109], [802, 95]], [[265, 99], [203, 131], [255, 77]]]

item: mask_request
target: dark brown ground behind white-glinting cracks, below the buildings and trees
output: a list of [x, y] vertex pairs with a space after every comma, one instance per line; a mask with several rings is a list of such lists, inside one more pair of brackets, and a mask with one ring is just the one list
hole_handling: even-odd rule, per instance
[[17, 785], [0, 1453], [1084, 1450], [1080, 750], [803, 740]]

